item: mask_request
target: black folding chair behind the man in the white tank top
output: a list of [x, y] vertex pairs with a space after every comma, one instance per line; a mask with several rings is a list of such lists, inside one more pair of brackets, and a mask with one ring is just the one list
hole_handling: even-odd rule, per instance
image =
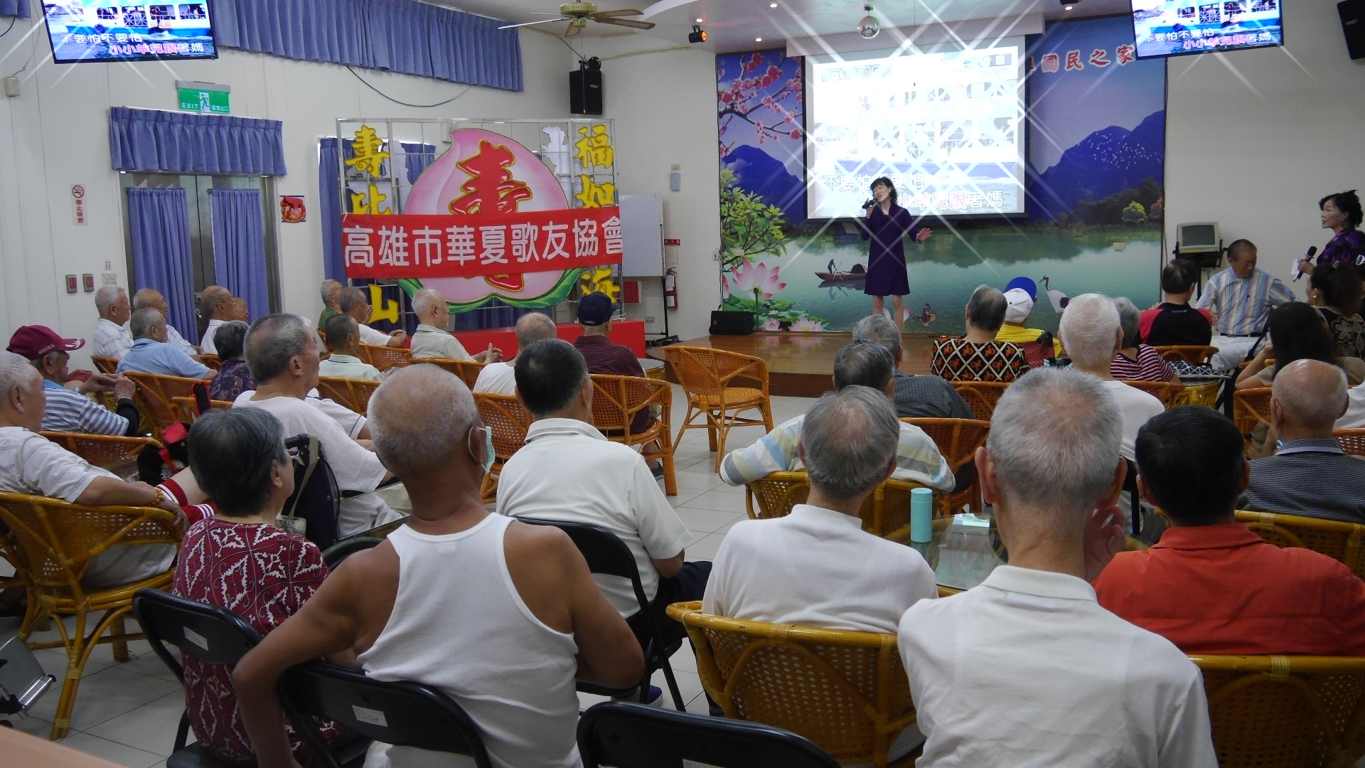
[[289, 667], [280, 676], [284, 712], [325, 768], [339, 768], [311, 716], [336, 720], [366, 738], [449, 752], [490, 768], [478, 726], [459, 704], [434, 687], [414, 682], [379, 682], [326, 661]]

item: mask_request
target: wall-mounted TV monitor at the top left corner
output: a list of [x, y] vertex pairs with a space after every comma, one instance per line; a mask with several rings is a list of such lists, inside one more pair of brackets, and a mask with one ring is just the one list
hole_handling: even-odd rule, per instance
[[209, 0], [44, 1], [57, 64], [217, 59]]

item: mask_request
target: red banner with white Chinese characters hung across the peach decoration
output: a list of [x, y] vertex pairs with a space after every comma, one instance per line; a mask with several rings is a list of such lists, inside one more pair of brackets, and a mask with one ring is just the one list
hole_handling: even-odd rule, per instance
[[347, 277], [479, 277], [621, 264], [621, 209], [505, 216], [347, 213]]

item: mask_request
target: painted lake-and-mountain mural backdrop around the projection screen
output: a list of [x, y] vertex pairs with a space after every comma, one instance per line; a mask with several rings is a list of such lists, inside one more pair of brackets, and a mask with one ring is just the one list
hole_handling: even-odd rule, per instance
[[[1133, 56], [1123, 18], [1050, 25], [1029, 45], [1029, 217], [953, 223], [906, 245], [906, 332], [961, 333], [976, 286], [1039, 284], [1028, 325], [1057, 329], [1063, 297], [1159, 299], [1166, 64]], [[781, 51], [717, 57], [721, 277], [760, 329], [850, 331], [871, 313], [852, 221], [805, 221], [803, 67]], [[829, 269], [830, 262], [834, 269]]]

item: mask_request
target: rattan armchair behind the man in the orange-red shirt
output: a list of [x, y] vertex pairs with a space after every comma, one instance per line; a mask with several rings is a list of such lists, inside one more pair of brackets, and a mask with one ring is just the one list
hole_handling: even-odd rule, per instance
[[1365, 657], [1190, 660], [1222, 768], [1350, 768], [1365, 756]]

